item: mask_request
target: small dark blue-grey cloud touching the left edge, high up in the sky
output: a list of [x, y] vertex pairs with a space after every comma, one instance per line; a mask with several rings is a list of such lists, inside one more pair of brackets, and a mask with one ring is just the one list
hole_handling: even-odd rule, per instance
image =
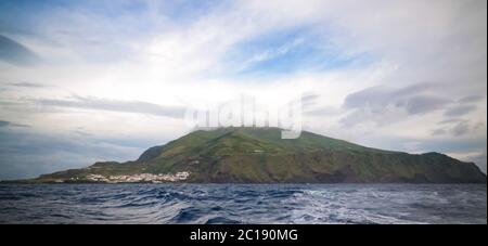
[[27, 47], [2, 35], [0, 35], [0, 60], [20, 66], [29, 66], [39, 62], [39, 57]]

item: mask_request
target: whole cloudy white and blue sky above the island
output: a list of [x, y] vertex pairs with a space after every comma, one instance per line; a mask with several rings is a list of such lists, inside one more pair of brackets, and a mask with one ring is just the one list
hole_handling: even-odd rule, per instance
[[2, 0], [0, 179], [136, 159], [243, 94], [486, 173], [486, 20], [481, 0]]

